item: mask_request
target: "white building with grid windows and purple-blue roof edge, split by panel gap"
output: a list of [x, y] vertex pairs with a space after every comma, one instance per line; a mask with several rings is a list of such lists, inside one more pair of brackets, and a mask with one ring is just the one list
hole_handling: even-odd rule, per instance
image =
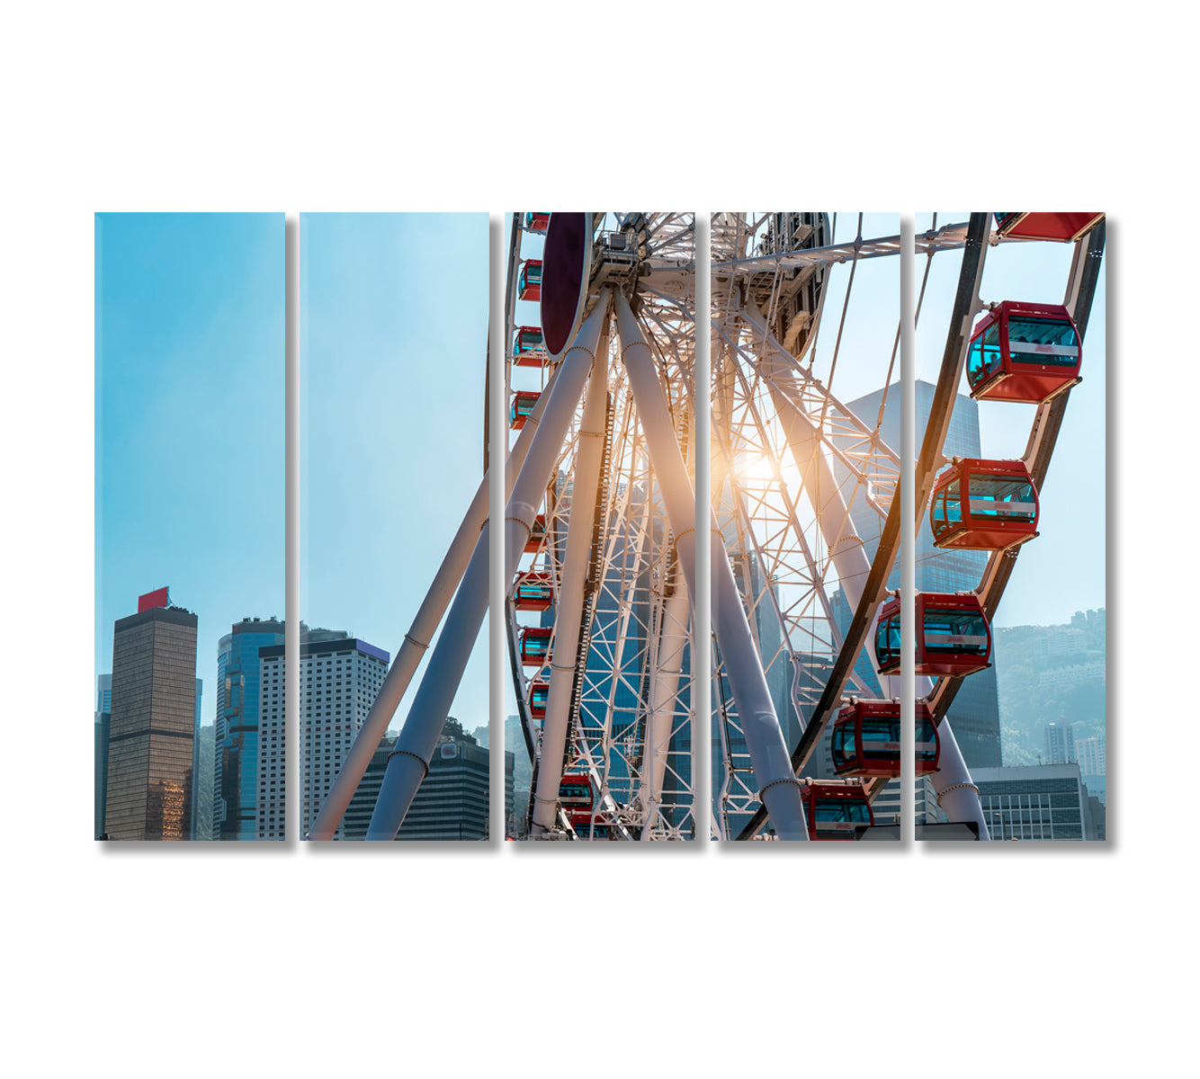
[[[388, 674], [388, 652], [343, 629], [312, 629], [300, 643], [300, 836], [308, 834]], [[283, 644], [258, 651], [259, 753], [254, 834], [283, 839]], [[346, 838], [346, 821], [335, 838]]]

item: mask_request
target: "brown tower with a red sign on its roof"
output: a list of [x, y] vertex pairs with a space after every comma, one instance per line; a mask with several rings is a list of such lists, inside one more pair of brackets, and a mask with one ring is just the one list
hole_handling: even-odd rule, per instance
[[142, 596], [113, 627], [110, 839], [192, 838], [197, 619], [168, 602], [166, 589]]

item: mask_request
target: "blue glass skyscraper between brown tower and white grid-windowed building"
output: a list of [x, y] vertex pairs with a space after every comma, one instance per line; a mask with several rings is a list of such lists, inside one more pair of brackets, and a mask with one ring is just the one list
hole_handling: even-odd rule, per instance
[[283, 645], [283, 622], [242, 619], [217, 644], [212, 838], [258, 838], [258, 651]]

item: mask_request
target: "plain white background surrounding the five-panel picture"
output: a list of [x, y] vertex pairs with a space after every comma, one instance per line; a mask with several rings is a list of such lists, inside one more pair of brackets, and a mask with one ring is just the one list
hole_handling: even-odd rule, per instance
[[[6, 18], [12, 1073], [1163, 1071], [1195, 960], [1176, 748], [1195, 718], [1177, 695], [1195, 595], [1195, 16], [611, 4], [554, 31], [563, 10]], [[1105, 846], [91, 840], [95, 211], [798, 201], [1110, 215]]]

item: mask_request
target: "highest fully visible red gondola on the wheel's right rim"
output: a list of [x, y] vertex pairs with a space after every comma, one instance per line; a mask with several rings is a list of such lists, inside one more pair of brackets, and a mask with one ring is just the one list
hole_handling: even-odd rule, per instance
[[971, 334], [967, 384], [977, 400], [1040, 404], [1081, 381], [1079, 332], [1066, 307], [1006, 300]]

